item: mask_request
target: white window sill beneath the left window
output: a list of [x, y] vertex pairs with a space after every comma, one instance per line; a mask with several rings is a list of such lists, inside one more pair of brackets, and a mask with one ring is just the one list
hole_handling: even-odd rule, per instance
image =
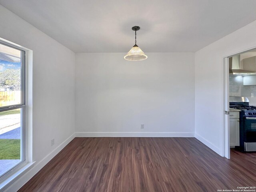
[[8, 176], [3, 178], [3, 180], [0, 181], [0, 191], [6, 190], [10, 185], [18, 180], [18, 178], [20, 178], [23, 174], [30, 170], [34, 166], [34, 164], [35, 161], [30, 163], [25, 162], [18, 170], [10, 173]]

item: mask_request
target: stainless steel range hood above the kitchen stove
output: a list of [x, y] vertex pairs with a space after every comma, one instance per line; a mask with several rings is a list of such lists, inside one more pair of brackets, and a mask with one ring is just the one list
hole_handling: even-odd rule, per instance
[[256, 71], [245, 70], [240, 63], [240, 55], [229, 58], [229, 73], [233, 75], [256, 75]]

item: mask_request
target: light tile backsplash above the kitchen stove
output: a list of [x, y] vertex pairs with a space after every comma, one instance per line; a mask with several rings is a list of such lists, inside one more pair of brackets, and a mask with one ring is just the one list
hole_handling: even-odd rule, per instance
[[[250, 93], [253, 93], [254, 97], [251, 98]], [[256, 85], [243, 85], [243, 77], [230, 76], [229, 95], [248, 97], [250, 105], [256, 104]]]

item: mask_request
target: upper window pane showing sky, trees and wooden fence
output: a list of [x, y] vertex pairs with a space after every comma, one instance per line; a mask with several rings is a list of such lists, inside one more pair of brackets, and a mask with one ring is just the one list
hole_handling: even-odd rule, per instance
[[20, 104], [21, 51], [0, 44], [0, 107]]

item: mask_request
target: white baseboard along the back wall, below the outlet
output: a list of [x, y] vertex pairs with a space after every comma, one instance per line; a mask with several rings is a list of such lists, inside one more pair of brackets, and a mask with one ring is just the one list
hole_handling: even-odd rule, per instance
[[194, 137], [194, 132], [76, 132], [76, 137]]

